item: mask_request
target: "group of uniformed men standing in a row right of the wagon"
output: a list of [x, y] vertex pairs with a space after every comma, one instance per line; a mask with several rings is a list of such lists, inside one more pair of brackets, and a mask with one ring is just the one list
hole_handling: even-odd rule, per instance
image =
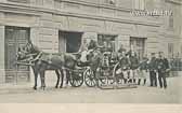
[[[145, 55], [141, 60], [133, 51], [126, 52], [125, 48], [120, 47], [118, 53], [121, 53], [119, 56], [120, 67], [129, 66], [130, 82], [136, 83], [138, 80], [138, 85], [140, 85], [143, 80], [143, 85], [145, 85], [148, 76], [150, 86], [157, 87], [157, 83], [159, 83], [160, 88], [167, 88], [166, 77], [170, 69], [168, 59], [164, 57], [164, 52], [159, 52], [158, 57], [156, 57], [156, 53], [151, 53], [151, 58]], [[125, 74], [125, 69], [122, 72]]]

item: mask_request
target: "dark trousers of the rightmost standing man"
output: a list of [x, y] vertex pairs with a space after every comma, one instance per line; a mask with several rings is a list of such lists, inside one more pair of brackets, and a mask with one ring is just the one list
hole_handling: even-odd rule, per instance
[[160, 88], [162, 87], [167, 88], [167, 81], [166, 81], [165, 72], [158, 72], [158, 81], [159, 81]]

